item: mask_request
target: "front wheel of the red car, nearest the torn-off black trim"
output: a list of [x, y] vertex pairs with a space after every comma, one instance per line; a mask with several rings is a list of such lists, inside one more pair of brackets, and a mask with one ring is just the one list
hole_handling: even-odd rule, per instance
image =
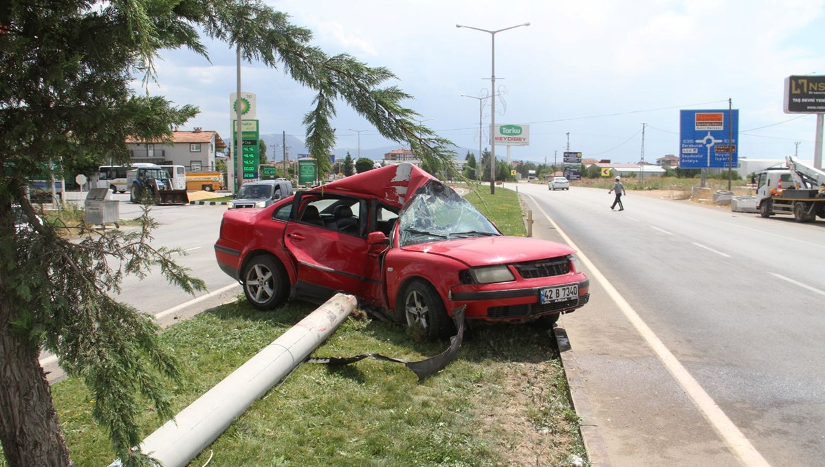
[[455, 324], [447, 315], [444, 302], [436, 288], [422, 280], [414, 280], [404, 287], [398, 308], [408, 326], [421, 324], [428, 340], [448, 339], [455, 333]]

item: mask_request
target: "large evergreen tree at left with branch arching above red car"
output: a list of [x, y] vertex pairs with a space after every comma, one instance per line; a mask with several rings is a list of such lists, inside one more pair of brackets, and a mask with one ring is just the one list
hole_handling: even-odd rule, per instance
[[[310, 44], [311, 31], [255, 0], [4, 0], [0, 7], [0, 441], [7, 465], [72, 465], [60, 431], [40, 349], [54, 353], [94, 399], [92, 416], [105, 427], [125, 465], [148, 465], [137, 415], [148, 400], [161, 418], [171, 405], [163, 376], [180, 371], [158, 344], [148, 316], [112, 298], [125, 274], [156, 267], [187, 292], [205, 284], [155, 248], [157, 225], [141, 217], [137, 231], [104, 233], [81, 226], [67, 241], [42, 223], [24, 187], [31, 168], [81, 166], [84, 158], [130, 161], [127, 138], [171, 138], [171, 128], [198, 114], [147, 90], [135, 77], [156, 79], [153, 60], [166, 49], [207, 57], [206, 40], [237, 46], [248, 62], [279, 69], [316, 91], [304, 117], [309, 152], [329, 154], [335, 142], [335, 103], [350, 105], [384, 138], [403, 142], [422, 159], [449, 164], [451, 143], [417, 124], [401, 105], [410, 96], [387, 68], [370, 68], [347, 54], [330, 56]], [[319, 173], [329, 171], [328, 159]], [[371, 161], [370, 161], [371, 168]], [[55, 169], [58, 178], [63, 174]], [[14, 226], [20, 204], [31, 231]]]

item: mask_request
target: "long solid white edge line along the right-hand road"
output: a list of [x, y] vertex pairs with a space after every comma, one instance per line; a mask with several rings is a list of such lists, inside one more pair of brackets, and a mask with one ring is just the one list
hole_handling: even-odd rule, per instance
[[[681, 385], [682, 389], [685, 390], [686, 394], [691, 398], [693, 404], [696, 406], [697, 409], [705, 416], [711, 426], [714, 427], [716, 432], [719, 434], [733, 452], [738, 455], [739, 459], [742, 460], [743, 465], [749, 465], [751, 467], [756, 466], [766, 466], [769, 467], [770, 464], [765, 460], [764, 457], [757, 451], [755, 447], [751, 444], [751, 441], [748, 441], [747, 437], [739, 430], [733, 422], [728, 418], [727, 415], [719, 408], [719, 405], [714, 402], [714, 399], [710, 397], [710, 395], [705, 392], [702, 386], [699, 384], [699, 381], [696, 381], [691, 373], [687, 371], [685, 367], [682, 366], [681, 362], [676, 359], [676, 356], [662, 343], [662, 340], [658, 338], [656, 334], [653, 333], [653, 329], [650, 329], [648, 325], [642, 320], [638, 313], [633, 309], [630, 304], [625, 301], [625, 298], [621, 296], [619, 291], [613, 287], [612, 284], [607, 280], [607, 278], [598, 270], [596, 269], [596, 265], [592, 264], [590, 259], [587, 258], [582, 250], [580, 250], [556, 224], [553, 219], [549, 217], [547, 212], [544, 212], [544, 208], [538, 203], [535, 203], [535, 199], [532, 198], [530, 195], [525, 194], [528, 198], [533, 200], [536, 208], [539, 208], [544, 217], [554, 226], [556, 231], [559, 232], [559, 235], [562, 236], [565, 242], [570, 245], [573, 250], [577, 250], [577, 257], [587, 266], [587, 269], [590, 269], [593, 278], [595, 278], [600, 284], [601, 287], [604, 287], [605, 291], [613, 298], [616, 305], [619, 306], [619, 309], [624, 313], [625, 317], [630, 321], [630, 323], [636, 328], [636, 331], [645, 342], [648, 343], [653, 352], [659, 357], [659, 360], [662, 361], [664, 367], [667, 368], [667, 371], [670, 371], [673, 378], [676, 382]], [[656, 228], [656, 227], [653, 227]], [[666, 232], [669, 233], [669, 232]]]

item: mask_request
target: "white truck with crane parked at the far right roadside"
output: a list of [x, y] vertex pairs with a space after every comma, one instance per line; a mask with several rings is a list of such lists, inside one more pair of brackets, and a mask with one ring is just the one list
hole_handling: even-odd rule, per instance
[[759, 174], [757, 208], [761, 217], [791, 214], [796, 222], [825, 218], [825, 171], [785, 157], [785, 167], [769, 167]]

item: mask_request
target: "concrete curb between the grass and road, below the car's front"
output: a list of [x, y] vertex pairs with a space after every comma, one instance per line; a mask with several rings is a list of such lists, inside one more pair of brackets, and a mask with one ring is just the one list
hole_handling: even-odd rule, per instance
[[587, 397], [582, 381], [582, 371], [578, 367], [573, 347], [570, 345], [567, 331], [556, 326], [553, 329], [556, 344], [559, 346], [559, 357], [562, 359], [564, 376], [568, 381], [568, 395], [573, 402], [573, 409], [578, 415], [578, 431], [582, 434], [584, 450], [587, 451], [589, 465], [599, 467], [610, 467], [610, 457], [607, 455], [607, 446], [599, 432], [599, 425], [596, 423], [596, 416]]

